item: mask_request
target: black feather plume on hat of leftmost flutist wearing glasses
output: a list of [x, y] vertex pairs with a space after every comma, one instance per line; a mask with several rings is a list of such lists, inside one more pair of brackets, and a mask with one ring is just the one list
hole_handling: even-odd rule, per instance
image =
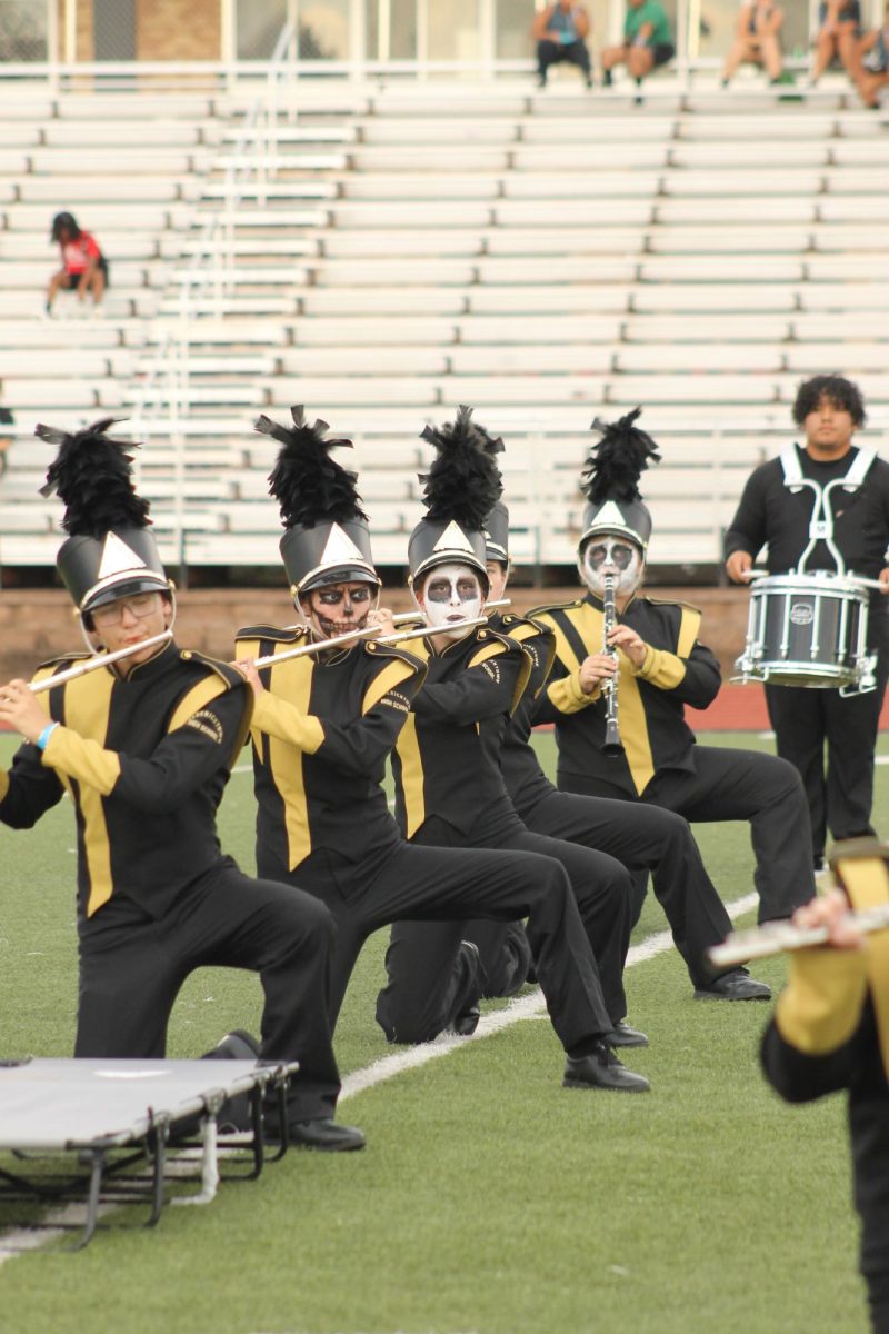
[[40, 495], [55, 491], [64, 502], [61, 527], [71, 536], [101, 539], [111, 528], [147, 528], [151, 523], [149, 504], [132, 483], [131, 451], [139, 444], [105, 435], [120, 420], [104, 418], [71, 434], [52, 426], [35, 428], [41, 440], [59, 446]]

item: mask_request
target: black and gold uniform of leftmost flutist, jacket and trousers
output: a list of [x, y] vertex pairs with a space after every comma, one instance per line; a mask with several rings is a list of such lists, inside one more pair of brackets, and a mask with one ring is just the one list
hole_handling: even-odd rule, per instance
[[97, 668], [39, 698], [60, 726], [43, 752], [23, 744], [0, 774], [0, 820], [28, 828], [65, 792], [73, 802], [76, 1055], [163, 1057], [188, 974], [252, 968], [265, 992], [263, 1057], [300, 1062], [292, 1119], [332, 1115], [331, 915], [309, 895], [243, 875], [216, 834], [251, 722], [244, 676], [171, 643], [125, 679]]

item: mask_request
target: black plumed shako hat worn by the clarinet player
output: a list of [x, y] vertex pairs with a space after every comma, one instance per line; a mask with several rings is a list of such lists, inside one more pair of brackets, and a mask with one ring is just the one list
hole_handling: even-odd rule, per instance
[[613, 532], [629, 538], [645, 554], [652, 516], [640, 495], [638, 479], [649, 463], [658, 463], [661, 456], [650, 435], [634, 426], [641, 411], [633, 408], [610, 423], [596, 418], [590, 427], [601, 439], [590, 447], [581, 474], [580, 488], [588, 503], [578, 552], [596, 534]]

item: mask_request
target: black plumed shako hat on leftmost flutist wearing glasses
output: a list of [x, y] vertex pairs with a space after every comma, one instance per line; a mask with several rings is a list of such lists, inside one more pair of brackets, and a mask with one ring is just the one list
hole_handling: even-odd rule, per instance
[[81, 615], [135, 592], [171, 592], [148, 518], [148, 502], [132, 483], [132, 440], [112, 440], [119, 418], [104, 418], [72, 434], [37, 426], [35, 434], [59, 454], [47, 471], [43, 496], [65, 504], [69, 534], [56, 556], [59, 574]]

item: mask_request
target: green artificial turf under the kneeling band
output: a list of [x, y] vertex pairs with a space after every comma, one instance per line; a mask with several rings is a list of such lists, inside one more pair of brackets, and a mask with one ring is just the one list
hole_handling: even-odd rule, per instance
[[[537, 744], [550, 764], [552, 738]], [[0, 738], [0, 762], [11, 750]], [[249, 775], [233, 776], [221, 828], [252, 867]], [[724, 898], [748, 894], [746, 828], [696, 834]], [[65, 1055], [71, 811], [0, 839], [0, 1054]], [[664, 926], [649, 895], [634, 939]], [[393, 1050], [373, 1022], [384, 935], [368, 943], [341, 1015], [344, 1074]], [[784, 962], [756, 974], [777, 987]], [[694, 1002], [673, 950], [628, 970], [626, 990], [652, 1039], [626, 1063], [650, 1094], [562, 1090], [548, 1022], [520, 1022], [344, 1102], [341, 1119], [368, 1134], [364, 1154], [292, 1153], [259, 1183], [224, 1183], [207, 1209], [167, 1210], [153, 1231], [121, 1210], [81, 1254], [51, 1246], [4, 1263], [0, 1330], [864, 1331], [842, 1101], [781, 1105], [757, 1067], [769, 1007]], [[201, 970], [176, 1006], [171, 1055], [256, 1027], [259, 1009], [256, 979]], [[0, 1226], [23, 1217], [0, 1206]]]

